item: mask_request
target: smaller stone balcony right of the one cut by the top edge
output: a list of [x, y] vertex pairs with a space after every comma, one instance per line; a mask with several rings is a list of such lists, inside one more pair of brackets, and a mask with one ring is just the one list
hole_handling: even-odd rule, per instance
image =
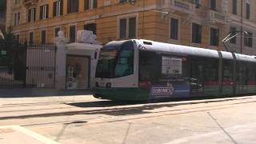
[[216, 23], [224, 25], [226, 24], [226, 15], [215, 10], [209, 10], [208, 18], [210, 23]]

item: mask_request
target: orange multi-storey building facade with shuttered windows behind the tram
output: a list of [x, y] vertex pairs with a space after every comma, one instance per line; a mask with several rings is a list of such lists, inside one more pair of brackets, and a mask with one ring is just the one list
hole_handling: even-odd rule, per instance
[[52, 42], [58, 30], [70, 42], [92, 30], [103, 44], [143, 38], [186, 46], [256, 54], [253, 0], [10, 0], [6, 27], [24, 42]]

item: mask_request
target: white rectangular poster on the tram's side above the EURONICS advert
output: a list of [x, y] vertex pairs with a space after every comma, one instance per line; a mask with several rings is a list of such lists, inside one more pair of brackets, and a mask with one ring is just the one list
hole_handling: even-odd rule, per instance
[[162, 74], [182, 74], [182, 58], [162, 57]]

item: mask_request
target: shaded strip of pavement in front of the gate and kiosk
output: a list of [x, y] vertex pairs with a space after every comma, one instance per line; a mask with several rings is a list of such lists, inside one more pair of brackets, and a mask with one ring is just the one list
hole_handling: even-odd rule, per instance
[[90, 90], [0, 89], [0, 98], [49, 97], [92, 94]]

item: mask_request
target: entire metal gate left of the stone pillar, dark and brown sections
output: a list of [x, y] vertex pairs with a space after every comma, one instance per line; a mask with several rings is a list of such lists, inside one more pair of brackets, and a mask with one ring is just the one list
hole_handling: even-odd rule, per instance
[[0, 41], [0, 89], [54, 88], [54, 44]]

